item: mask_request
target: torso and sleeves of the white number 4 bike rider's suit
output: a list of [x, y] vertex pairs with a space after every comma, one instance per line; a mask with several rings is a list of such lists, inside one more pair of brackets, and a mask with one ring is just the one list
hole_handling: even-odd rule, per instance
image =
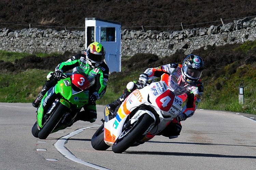
[[175, 95], [180, 96], [183, 102], [187, 99], [186, 105], [182, 108], [184, 119], [192, 116], [201, 101], [203, 94], [203, 84], [199, 80], [196, 84], [188, 84], [183, 81], [181, 73], [181, 64], [171, 63], [156, 68], [148, 68], [144, 71], [148, 75], [149, 80], [160, 77], [163, 73], [170, 75], [168, 86]]

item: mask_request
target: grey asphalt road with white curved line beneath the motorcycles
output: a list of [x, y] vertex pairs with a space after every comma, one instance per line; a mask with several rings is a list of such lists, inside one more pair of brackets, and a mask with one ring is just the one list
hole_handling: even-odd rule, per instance
[[240, 114], [198, 110], [178, 138], [156, 136], [115, 154], [90, 145], [98, 128], [91, 126], [103, 117], [97, 108], [95, 123], [78, 121], [40, 140], [31, 134], [31, 104], [0, 103], [0, 169], [255, 169], [256, 121]]

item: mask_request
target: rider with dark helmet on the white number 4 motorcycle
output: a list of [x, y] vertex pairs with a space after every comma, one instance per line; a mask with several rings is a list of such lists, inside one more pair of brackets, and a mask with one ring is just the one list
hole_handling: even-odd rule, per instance
[[194, 115], [197, 105], [201, 101], [203, 94], [203, 84], [200, 79], [202, 70], [202, 58], [193, 54], [188, 55], [182, 65], [171, 63], [156, 68], [148, 68], [144, 73], [140, 74], [139, 82], [129, 82], [123, 95], [116, 101], [110, 103], [108, 108], [110, 112], [113, 113], [117, 106], [119, 106], [133, 90], [142, 88], [142, 85], [145, 85], [148, 80], [156, 79], [161, 77], [163, 73], [167, 73], [169, 74], [169, 89], [173, 91], [176, 96], [180, 96], [183, 102], [185, 100], [187, 101], [176, 119], [173, 119], [172, 123], [159, 134], [169, 138], [175, 138], [180, 135], [182, 128], [180, 121], [186, 120], [188, 117]]

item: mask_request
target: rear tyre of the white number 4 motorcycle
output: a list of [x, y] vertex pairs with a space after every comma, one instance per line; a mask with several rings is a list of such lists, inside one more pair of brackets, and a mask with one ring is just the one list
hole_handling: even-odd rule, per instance
[[91, 146], [98, 151], [105, 151], [110, 147], [104, 142], [104, 124], [100, 126], [91, 138]]

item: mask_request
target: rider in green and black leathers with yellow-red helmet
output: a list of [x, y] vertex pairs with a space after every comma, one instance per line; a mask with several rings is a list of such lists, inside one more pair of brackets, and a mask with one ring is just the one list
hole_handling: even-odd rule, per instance
[[85, 73], [95, 77], [95, 84], [90, 87], [89, 102], [84, 105], [84, 111], [77, 114], [76, 120], [83, 120], [95, 122], [97, 119], [96, 100], [103, 97], [106, 91], [106, 84], [109, 78], [109, 67], [104, 62], [105, 49], [98, 43], [91, 43], [84, 54], [77, 54], [72, 56], [68, 61], [60, 63], [52, 75], [47, 75], [47, 81], [43, 88], [34, 100], [32, 105], [38, 107], [43, 96], [46, 92], [53, 87], [62, 77], [63, 72], [73, 69], [74, 67], [81, 66], [84, 68]]

